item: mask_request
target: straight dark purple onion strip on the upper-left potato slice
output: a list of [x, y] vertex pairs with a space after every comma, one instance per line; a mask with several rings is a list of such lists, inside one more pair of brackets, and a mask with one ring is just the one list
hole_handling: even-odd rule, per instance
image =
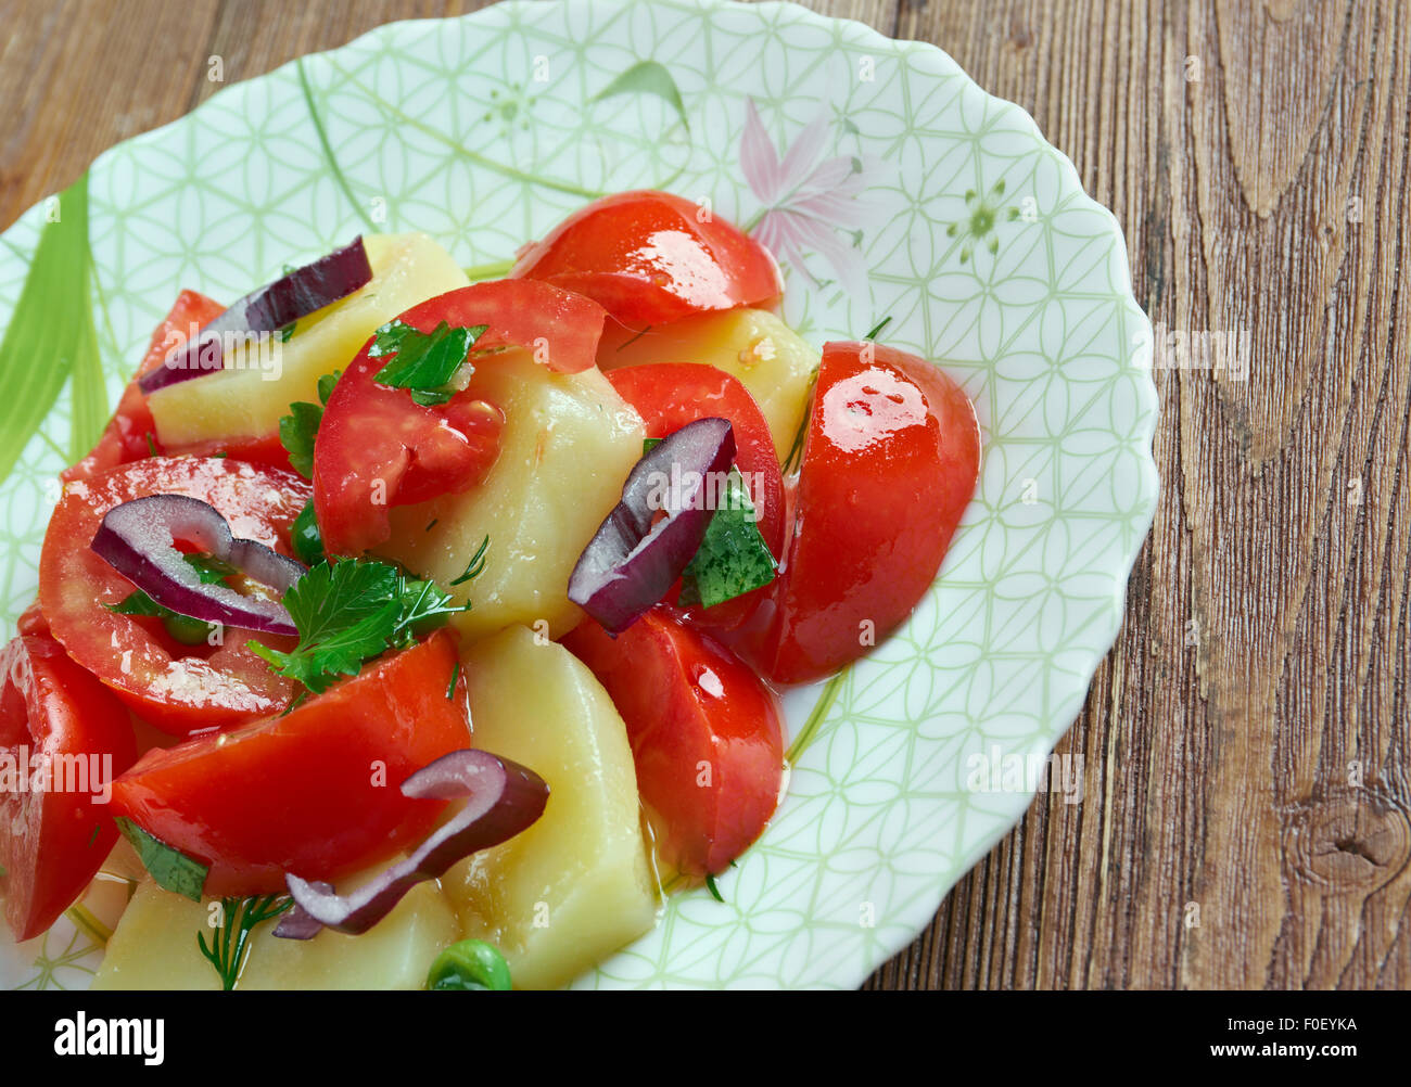
[[227, 333], [278, 331], [299, 317], [347, 297], [371, 279], [373, 265], [363, 248], [363, 237], [358, 235], [341, 250], [295, 268], [231, 303], [230, 309], [166, 355], [161, 367], [144, 374], [137, 383], [143, 392], [151, 393], [217, 371], [223, 362]]

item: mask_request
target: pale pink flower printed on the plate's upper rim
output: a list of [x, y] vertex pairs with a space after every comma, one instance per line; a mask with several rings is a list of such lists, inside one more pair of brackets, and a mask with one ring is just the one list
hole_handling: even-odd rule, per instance
[[858, 197], [868, 186], [869, 165], [854, 155], [823, 158], [827, 130], [825, 118], [816, 117], [780, 161], [755, 100], [745, 99], [739, 169], [765, 204], [746, 230], [814, 283], [818, 276], [804, 262], [810, 252], [828, 264], [849, 293], [862, 293], [866, 265], [859, 244], [873, 209]]

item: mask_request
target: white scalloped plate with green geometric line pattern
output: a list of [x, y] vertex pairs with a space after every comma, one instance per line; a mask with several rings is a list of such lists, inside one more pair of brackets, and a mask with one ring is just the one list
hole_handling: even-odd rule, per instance
[[[594, 100], [642, 61], [670, 72], [684, 123], [670, 96]], [[1072, 722], [1156, 505], [1151, 330], [1122, 234], [1022, 109], [940, 49], [790, 4], [505, 3], [382, 27], [95, 162], [109, 399], [182, 286], [236, 297], [368, 226], [492, 265], [590, 195], [645, 186], [772, 231], [785, 316], [814, 343], [890, 316], [886, 341], [941, 362], [983, 429], [941, 578], [828, 688], [779, 815], [720, 880], [725, 904], [673, 897], [577, 983], [852, 987], [1023, 813], [1029, 791], [967, 788], [969, 760], [1043, 757]], [[830, 186], [849, 203], [830, 210]], [[42, 219], [0, 245], [0, 326]], [[69, 420], [65, 391], [0, 485], [11, 620]], [[793, 733], [818, 699], [789, 695]], [[0, 983], [82, 984], [97, 953], [72, 932], [21, 967], [24, 949], [0, 947]]]

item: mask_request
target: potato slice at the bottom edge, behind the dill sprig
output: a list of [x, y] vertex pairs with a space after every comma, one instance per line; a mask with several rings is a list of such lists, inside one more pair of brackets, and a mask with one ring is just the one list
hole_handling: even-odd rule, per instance
[[[220, 988], [196, 935], [213, 929], [209, 902], [192, 902], [144, 881], [107, 942], [93, 988]], [[361, 936], [320, 932], [284, 940], [265, 922], [250, 936], [237, 988], [420, 988], [442, 949], [456, 942], [456, 912], [436, 884], [413, 887]]]

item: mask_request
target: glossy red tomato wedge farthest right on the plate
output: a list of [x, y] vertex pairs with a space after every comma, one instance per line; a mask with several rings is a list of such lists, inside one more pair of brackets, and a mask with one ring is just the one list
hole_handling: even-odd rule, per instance
[[824, 344], [794, 536], [739, 651], [775, 682], [823, 678], [902, 623], [979, 479], [975, 407], [931, 364]]

